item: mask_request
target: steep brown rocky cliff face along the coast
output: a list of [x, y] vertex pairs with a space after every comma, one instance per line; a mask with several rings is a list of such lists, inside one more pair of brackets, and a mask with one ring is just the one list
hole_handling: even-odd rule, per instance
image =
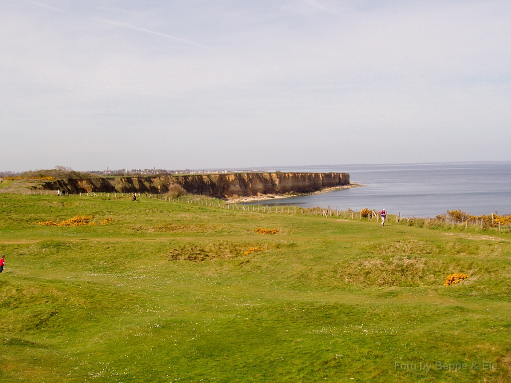
[[47, 182], [47, 189], [71, 193], [121, 192], [167, 193], [172, 184], [181, 185], [191, 194], [225, 198], [259, 194], [308, 193], [329, 186], [348, 185], [347, 173], [234, 173], [164, 177], [120, 177], [67, 179]]

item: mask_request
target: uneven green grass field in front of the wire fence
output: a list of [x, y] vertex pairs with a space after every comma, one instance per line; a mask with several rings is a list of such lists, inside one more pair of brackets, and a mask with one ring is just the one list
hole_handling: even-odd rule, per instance
[[[511, 381], [508, 233], [143, 197], [0, 206], [2, 382]], [[98, 224], [36, 224], [77, 214]]]

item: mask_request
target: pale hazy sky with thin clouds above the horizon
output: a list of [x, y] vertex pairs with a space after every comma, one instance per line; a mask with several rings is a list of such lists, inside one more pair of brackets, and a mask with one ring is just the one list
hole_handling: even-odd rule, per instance
[[509, 160], [508, 0], [2, 0], [0, 170]]

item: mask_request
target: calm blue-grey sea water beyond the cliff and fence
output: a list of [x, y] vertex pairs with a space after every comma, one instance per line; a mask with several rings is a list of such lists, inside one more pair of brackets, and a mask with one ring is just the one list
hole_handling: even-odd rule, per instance
[[281, 167], [282, 172], [343, 172], [367, 185], [260, 204], [360, 210], [402, 217], [434, 217], [461, 209], [474, 215], [511, 212], [511, 162], [325, 165]]

